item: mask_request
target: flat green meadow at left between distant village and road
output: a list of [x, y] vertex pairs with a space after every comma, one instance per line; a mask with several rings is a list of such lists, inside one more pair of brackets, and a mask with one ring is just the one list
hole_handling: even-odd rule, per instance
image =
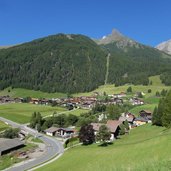
[[12, 103], [0, 105], [0, 116], [18, 123], [28, 123], [33, 112], [40, 112], [42, 116], [51, 115], [54, 112], [66, 111], [62, 107], [51, 107], [28, 103]]

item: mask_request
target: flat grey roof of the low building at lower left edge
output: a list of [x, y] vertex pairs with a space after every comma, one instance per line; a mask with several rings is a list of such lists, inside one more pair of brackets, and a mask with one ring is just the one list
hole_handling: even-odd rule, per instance
[[24, 145], [19, 139], [0, 138], [0, 152]]

